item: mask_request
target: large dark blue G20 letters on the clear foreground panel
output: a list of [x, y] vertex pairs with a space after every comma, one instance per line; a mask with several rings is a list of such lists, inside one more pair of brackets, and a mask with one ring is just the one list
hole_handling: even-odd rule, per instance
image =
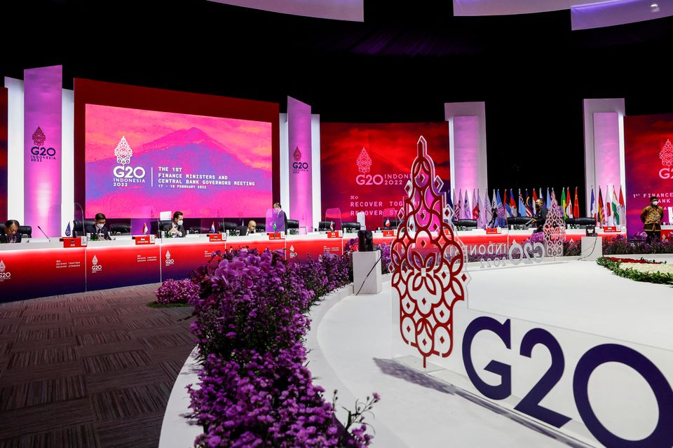
[[[475, 318], [465, 329], [463, 335], [463, 364], [470, 381], [484, 396], [491, 400], [504, 400], [512, 394], [512, 366], [491, 360], [484, 370], [500, 377], [500, 384], [492, 385], [485, 382], [477, 374], [472, 359], [472, 342], [481, 331], [493, 332], [510, 350], [511, 323], [510, 319], [500, 323], [496, 319], [482, 316]], [[545, 346], [551, 355], [551, 365], [542, 375], [537, 384], [514, 407], [519, 412], [528, 414], [535, 419], [544, 421], [556, 428], [561, 428], [571, 418], [544, 407], [540, 402], [563, 376], [565, 360], [563, 350], [557, 339], [547, 330], [533, 328], [524, 335], [519, 354], [531, 358], [533, 348], [538, 344]], [[611, 431], [599, 421], [589, 400], [589, 378], [599, 366], [606, 363], [620, 363], [631, 367], [647, 381], [659, 408], [658, 421], [652, 433], [641, 440], [627, 440]], [[618, 391], [615, 391], [618, 392]], [[670, 416], [673, 415], [673, 390], [666, 377], [654, 363], [644, 355], [619, 344], [601, 344], [587, 350], [578, 360], [573, 373], [573, 397], [575, 405], [587, 429], [606, 447], [671, 447], [673, 445], [673, 426]]]

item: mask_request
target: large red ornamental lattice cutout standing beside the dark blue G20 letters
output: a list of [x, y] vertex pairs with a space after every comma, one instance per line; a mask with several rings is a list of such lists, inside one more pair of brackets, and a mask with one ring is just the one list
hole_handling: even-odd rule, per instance
[[454, 304], [465, 300], [461, 243], [451, 228], [451, 211], [438, 192], [442, 179], [421, 137], [412, 164], [407, 197], [398, 217], [402, 224], [390, 248], [392, 285], [400, 296], [400, 334], [423, 356], [443, 358], [453, 349]]

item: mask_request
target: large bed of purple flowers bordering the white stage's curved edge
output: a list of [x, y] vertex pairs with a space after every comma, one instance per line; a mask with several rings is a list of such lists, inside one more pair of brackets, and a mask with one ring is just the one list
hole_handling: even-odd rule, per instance
[[[197, 446], [369, 444], [360, 419], [341, 425], [335, 418], [334, 402], [313, 384], [302, 344], [311, 305], [351, 281], [350, 255], [288, 265], [279, 253], [238, 250], [215, 253], [197, 270], [191, 328], [203, 368], [200, 387], [189, 386], [193, 416], [204, 429]], [[374, 397], [349, 414], [363, 418]]]

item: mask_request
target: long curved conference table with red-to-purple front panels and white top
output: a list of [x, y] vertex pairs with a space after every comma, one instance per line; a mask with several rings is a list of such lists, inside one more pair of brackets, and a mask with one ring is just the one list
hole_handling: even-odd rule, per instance
[[[456, 232], [456, 237], [473, 251], [489, 244], [522, 242], [530, 235], [531, 230], [503, 230], [496, 235], [487, 235], [484, 230]], [[578, 241], [583, 235], [584, 230], [566, 231], [567, 240]], [[616, 235], [625, 236], [625, 232], [599, 233], [604, 237]], [[114, 241], [30, 239], [27, 243], [0, 244], [0, 302], [184, 279], [210, 260], [215, 251], [236, 248], [280, 249], [288, 262], [305, 260], [309, 255], [318, 258], [325, 252], [341, 255], [344, 246], [355, 237], [326, 232], [280, 237], [188, 235], [175, 239], [153, 237], [152, 241], [149, 237], [116, 237]], [[374, 244], [391, 244], [393, 239], [393, 231], [374, 232]]]

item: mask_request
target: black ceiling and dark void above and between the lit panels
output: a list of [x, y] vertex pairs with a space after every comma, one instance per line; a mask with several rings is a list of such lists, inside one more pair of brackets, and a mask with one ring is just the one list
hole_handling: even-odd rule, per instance
[[[489, 186], [583, 184], [582, 99], [669, 112], [673, 18], [571, 31], [569, 11], [456, 18], [451, 1], [365, 0], [365, 22], [203, 0], [3, 4], [0, 75], [72, 78], [311, 104], [322, 121], [444, 119], [485, 101]], [[28, 43], [30, 42], [30, 43]], [[563, 168], [552, 155], [563, 155]], [[568, 163], [569, 162], [569, 163]], [[548, 172], [543, 167], [553, 167]]]

